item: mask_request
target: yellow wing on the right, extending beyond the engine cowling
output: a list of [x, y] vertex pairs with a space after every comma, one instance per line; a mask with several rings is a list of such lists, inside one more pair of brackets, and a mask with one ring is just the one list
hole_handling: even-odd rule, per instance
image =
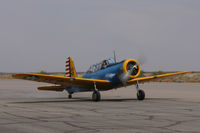
[[129, 80], [127, 85], [135, 84], [137, 81], [139, 81], [140, 83], [141, 82], [144, 83], [144, 82], [152, 81], [152, 80], [157, 79], [157, 78], [164, 78], [164, 77], [168, 77], [168, 76], [175, 76], [175, 75], [186, 74], [186, 73], [192, 73], [192, 72], [191, 71], [185, 71], [185, 72], [168, 73], [168, 74], [162, 74], [162, 75], [156, 75], [156, 76], [135, 78], [135, 79]]

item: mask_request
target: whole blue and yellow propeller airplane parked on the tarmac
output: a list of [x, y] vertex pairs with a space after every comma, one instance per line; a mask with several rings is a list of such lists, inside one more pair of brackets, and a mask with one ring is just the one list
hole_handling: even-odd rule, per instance
[[157, 78], [175, 76], [179, 74], [191, 73], [190, 71], [168, 73], [156, 76], [140, 77], [141, 67], [137, 60], [126, 59], [116, 62], [113, 58], [108, 58], [100, 63], [91, 65], [82, 77], [78, 77], [72, 57], [66, 61], [65, 76], [55, 76], [47, 74], [18, 73], [12, 77], [16, 79], [31, 80], [55, 84], [54, 86], [41, 86], [38, 90], [44, 91], [64, 91], [68, 92], [68, 98], [72, 98], [73, 93], [92, 91], [92, 100], [100, 101], [100, 91], [107, 91], [136, 85], [137, 99], [144, 100], [145, 92], [140, 89], [139, 83], [149, 82]]

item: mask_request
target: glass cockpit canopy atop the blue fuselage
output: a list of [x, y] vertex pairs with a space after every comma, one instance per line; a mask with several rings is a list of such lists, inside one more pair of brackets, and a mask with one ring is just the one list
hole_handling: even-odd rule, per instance
[[87, 73], [93, 73], [102, 69], [105, 69], [109, 66], [112, 66], [115, 64], [115, 61], [113, 58], [108, 58], [106, 60], [101, 61], [100, 63], [91, 65], [90, 68], [88, 69]]

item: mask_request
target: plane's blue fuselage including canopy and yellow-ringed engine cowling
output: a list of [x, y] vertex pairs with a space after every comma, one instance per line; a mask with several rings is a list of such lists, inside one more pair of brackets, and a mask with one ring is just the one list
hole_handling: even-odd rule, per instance
[[[107, 80], [110, 82], [109, 85], [99, 86], [100, 90], [110, 90], [114, 88], [119, 88], [127, 84], [130, 79], [134, 79], [140, 74], [140, 65], [134, 59], [126, 59], [121, 62], [115, 63], [111, 60], [104, 60], [101, 63], [92, 65], [89, 70], [83, 74], [82, 78], [85, 79], [97, 79], [97, 80]], [[67, 88], [68, 92], [81, 92], [81, 91], [91, 91], [91, 88], [98, 88], [95, 85], [90, 84], [84, 88]]]

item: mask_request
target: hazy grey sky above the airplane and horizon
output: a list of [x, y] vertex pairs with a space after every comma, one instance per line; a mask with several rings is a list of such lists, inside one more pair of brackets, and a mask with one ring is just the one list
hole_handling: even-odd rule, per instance
[[77, 71], [113, 56], [200, 71], [199, 0], [0, 0], [0, 72]]

